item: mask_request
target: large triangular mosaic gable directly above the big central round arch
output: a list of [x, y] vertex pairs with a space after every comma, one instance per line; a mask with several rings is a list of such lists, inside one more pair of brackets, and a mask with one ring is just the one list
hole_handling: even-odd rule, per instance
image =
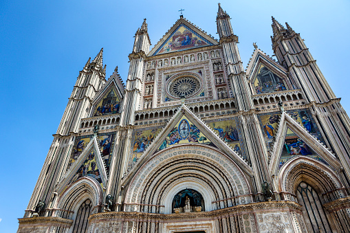
[[174, 131], [174, 129], [176, 129], [176, 127], [177, 131], [179, 131], [182, 122], [187, 124], [185, 120], [188, 122], [189, 126], [192, 125], [193, 127], [193, 129], [190, 130], [195, 131], [195, 134], [199, 136], [196, 136], [198, 142], [188, 142], [188, 137], [190, 137], [190, 133], [188, 132], [187, 134], [186, 132], [184, 132], [183, 136], [180, 136], [181, 140], [179, 141], [179, 143], [199, 143], [216, 146], [217, 148], [219, 148], [219, 150], [223, 151], [223, 153], [226, 153], [226, 155], [230, 156], [234, 160], [234, 162], [237, 163], [238, 166], [245, 170], [246, 173], [251, 175], [253, 174], [252, 168], [250, 168], [248, 163], [240, 155], [237, 155], [237, 153], [234, 152], [233, 148], [231, 148], [228, 144], [223, 142], [217, 133], [213, 132], [207, 124], [205, 124], [199, 118], [197, 118], [197, 116], [194, 113], [192, 113], [184, 104], [182, 105], [181, 109], [179, 109], [179, 111], [177, 111], [177, 113], [173, 115], [173, 118], [171, 118], [168, 124], [164, 126], [164, 129], [162, 129], [159, 135], [155, 137], [155, 140], [153, 140], [150, 146], [146, 148], [140, 159], [135, 158], [135, 161], [132, 162], [133, 166], [129, 174], [133, 173], [133, 171], [137, 170], [140, 166], [142, 166], [142, 164], [148, 159], [150, 159], [153, 156], [153, 154], [167, 148], [162, 146], [164, 145], [164, 141], [168, 141], [166, 142], [166, 145], [169, 146], [172, 132]]

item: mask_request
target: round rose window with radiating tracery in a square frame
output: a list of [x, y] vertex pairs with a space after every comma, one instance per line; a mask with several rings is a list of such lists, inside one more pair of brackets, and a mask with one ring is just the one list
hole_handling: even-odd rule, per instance
[[201, 84], [197, 78], [185, 76], [171, 82], [169, 93], [176, 98], [188, 98], [195, 95], [200, 87]]

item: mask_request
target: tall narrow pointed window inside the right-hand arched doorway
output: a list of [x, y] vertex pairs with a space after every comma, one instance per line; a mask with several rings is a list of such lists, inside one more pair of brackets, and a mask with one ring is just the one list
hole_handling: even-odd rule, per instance
[[301, 182], [296, 195], [302, 206], [308, 232], [331, 232], [322, 203], [314, 188], [305, 182]]

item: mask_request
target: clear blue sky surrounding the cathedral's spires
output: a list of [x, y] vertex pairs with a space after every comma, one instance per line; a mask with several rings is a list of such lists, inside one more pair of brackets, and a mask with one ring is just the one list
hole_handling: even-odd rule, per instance
[[[230, 14], [244, 67], [256, 42], [272, 55], [271, 16], [305, 39], [329, 85], [350, 110], [349, 1], [220, 1]], [[133, 36], [147, 19], [151, 47], [184, 17], [218, 38], [217, 1], [0, 2], [0, 232], [16, 232], [67, 104], [89, 56], [104, 47], [107, 77], [125, 80]]]

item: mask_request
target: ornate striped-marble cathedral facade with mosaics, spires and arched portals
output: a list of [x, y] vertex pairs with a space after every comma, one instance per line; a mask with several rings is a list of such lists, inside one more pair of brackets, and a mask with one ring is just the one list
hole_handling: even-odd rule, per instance
[[246, 69], [230, 16], [219, 40], [180, 16], [124, 85], [87, 61], [18, 232], [349, 232], [350, 121], [287, 23]]

